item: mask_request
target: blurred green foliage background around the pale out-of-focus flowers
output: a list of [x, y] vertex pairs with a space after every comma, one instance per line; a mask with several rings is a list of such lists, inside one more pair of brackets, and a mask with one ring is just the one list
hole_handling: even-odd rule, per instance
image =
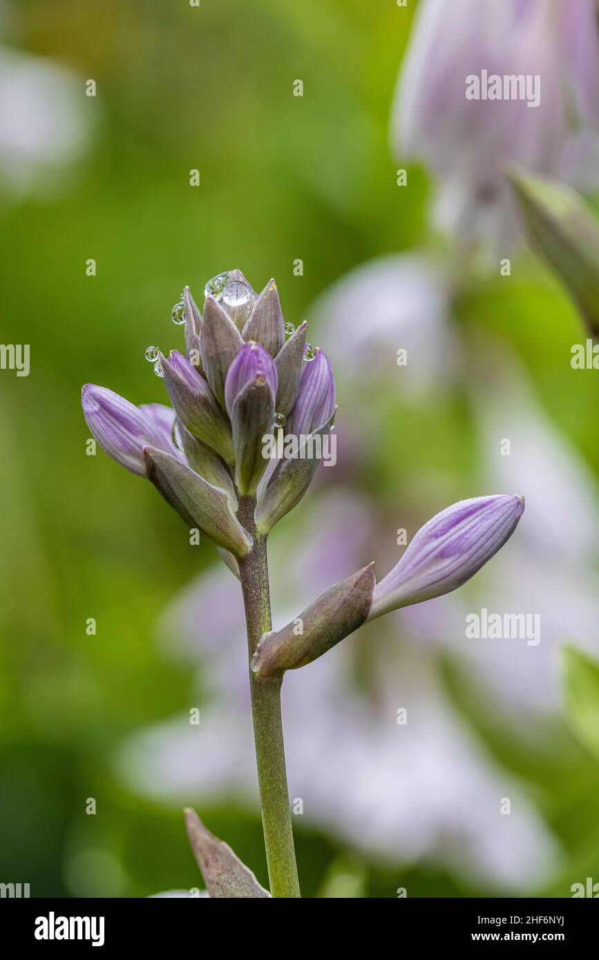
[[[30, 882], [32, 896], [199, 884], [180, 812], [128, 793], [111, 759], [128, 732], [188, 708], [192, 671], [165, 663], [153, 627], [214, 558], [181, 538], [149, 484], [101, 453], [85, 456], [82, 384], [163, 401], [143, 352], [180, 346], [169, 314], [185, 283], [201, 291], [235, 266], [257, 288], [275, 276], [297, 323], [350, 268], [430, 239], [425, 174], [410, 167], [410, 189], [398, 189], [389, 149], [411, 16], [395, 0], [6, 5], [7, 46], [74, 71], [89, 124], [84, 156], [60, 184], [48, 175], [47, 190], [5, 187], [0, 197], [1, 338], [31, 344], [30, 376], [0, 373], [0, 880]], [[95, 98], [84, 95], [89, 78]], [[189, 185], [193, 168], [199, 187]], [[90, 257], [97, 276], [85, 275]], [[597, 473], [597, 376], [572, 376], [564, 362], [583, 338], [578, 318], [557, 282], [525, 266], [509, 286], [471, 277], [454, 322], [470, 344], [482, 330], [515, 349], [545, 412]], [[368, 407], [355, 412], [384, 433], [365, 489], [394, 502], [422, 469], [469, 489], [466, 383], [408, 413], [363, 375]], [[340, 382], [351, 416], [358, 399], [344, 396], [343, 373]], [[85, 633], [88, 617], [96, 636]], [[493, 722], [448, 654], [440, 672], [491, 756], [528, 783], [563, 844], [563, 877], [599, 879], [596, 760], [561, 721], [542, 750], [520, 741]], [[88, 797], [95, 817], [84, 815]], [[257, 812], [234, 797], [202, 812], [264, 881]], [[371, 897], [394, 897], [399, 885], [410, 896], [495, 892], [434, 860], [392, 869], [347, 852], [347, 865], [346, 845], [309, 826], [297, 841], [304, 896], [323, 893], [336, 871]], [[538, 892], [568, 896], [569, 882]]]

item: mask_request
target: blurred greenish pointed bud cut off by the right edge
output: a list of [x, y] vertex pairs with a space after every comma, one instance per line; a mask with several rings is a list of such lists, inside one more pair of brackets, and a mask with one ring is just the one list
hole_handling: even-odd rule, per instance
[[562, 277], [591, 333], [599, 334], [599, 226], [560, 180], [508, 170], [531, 242]]

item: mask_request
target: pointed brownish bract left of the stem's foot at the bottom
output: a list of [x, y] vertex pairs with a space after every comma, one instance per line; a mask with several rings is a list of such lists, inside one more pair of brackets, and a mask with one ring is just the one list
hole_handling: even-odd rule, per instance
[[204, 827], [195, 810], [187, 808], [185, 827], [198, 866], [204, 876], [206, 890], [212, 898], [270, 898], [252, 871], [232, 852], [228, 844]]

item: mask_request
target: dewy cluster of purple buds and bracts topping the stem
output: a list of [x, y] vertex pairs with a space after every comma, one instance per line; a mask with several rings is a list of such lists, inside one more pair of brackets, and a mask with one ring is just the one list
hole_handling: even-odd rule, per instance
[[[280, 398], [283, 416], [295, 416], [300, 431], [328, 430], [335, 385], [321, 351], [303, 362], [305, 323], [285, 343], [274, 280], [257, 296], [241, 271], [217, 279], [206, 287], [203, 314], [184, 288], [186, 356], [179, 350], [159, 354], [174, 410], [161, 404], [134, 407], [91, 386], [84, 387], [82, 403], [94, 437], [111, 457], [151, 479], [185, 522], [238, 557], [252, 542], [252, 531], [234, 516], [238, 495], [255, 496], [268, 466], [263, 437], [274, 428], [276, 401]], [[317, 466], [318, 461], [303, 471], [301, 484], [287, 474], [278, 479], [269, 493], [276, 518], [291, 509], [281, 512], [281, 498], [287, 504], [293, 499], [295, 506]], [[266, 491], [258, 497], [258, 510], [265, 496]], [[209, 522], [215, 509], [225, 513]], [[245, 522], [252, 527], [252, 516]]]

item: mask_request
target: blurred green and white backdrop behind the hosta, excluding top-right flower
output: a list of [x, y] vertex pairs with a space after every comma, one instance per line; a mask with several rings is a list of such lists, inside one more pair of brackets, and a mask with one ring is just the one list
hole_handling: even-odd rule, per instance
[[[443, 234], [434, 178], [394, 153], [417, 7], [0, 6], [1, 339], [31, 345], [29, 376], [0, 371], [0, 880], [32, 896], [201, 885], [187, 804], [266, 882], [238, 585], [150, 484], [86, 455], [80, 406], [88, 381], [163, 401], [144, 349], [180, 347], [182, 286], [202, 300], [231, 267], [276, 277], [338, 380], [338, 465], [272, 535], [279, 625], [387, 572], [397, 529], [527, 497], [467, 588], [286, 682], [303, 895], [599, 881], [599, 374], [570, 367], [587, 334], [559, 282]], [[481, 607], [539, 613], [539, 645], [467, 640]]]

